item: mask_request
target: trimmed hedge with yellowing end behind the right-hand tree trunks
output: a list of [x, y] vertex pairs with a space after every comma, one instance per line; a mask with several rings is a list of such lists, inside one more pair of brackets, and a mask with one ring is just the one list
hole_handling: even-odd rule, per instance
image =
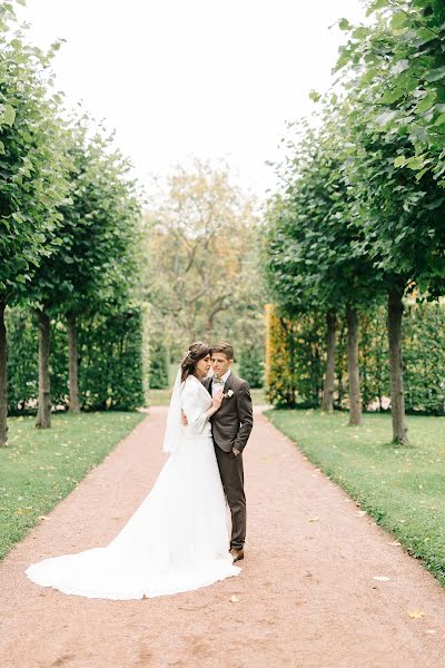
[[[325, 372], [324, 317], [289, 321], [268, 306], [267, 395], [276, 406], [318, 407]], [[338, 325], [335, 406], [348, 405], [347, 332]], [[365, 409], [389, 407], [386, 310], [359, 317], [359, 367]], [[408, 413], [445, 414], [445, 305], [406, 302], [403, 322], [405, 405]]]

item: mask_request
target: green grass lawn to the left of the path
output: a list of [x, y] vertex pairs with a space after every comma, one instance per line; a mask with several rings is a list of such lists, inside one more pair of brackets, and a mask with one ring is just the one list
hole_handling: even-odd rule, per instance
[[36, 429], [33, 418], [10, 418], [9, 443], [0, 448], [0, 559], [144, 418], [55, 414], [49, 430]]

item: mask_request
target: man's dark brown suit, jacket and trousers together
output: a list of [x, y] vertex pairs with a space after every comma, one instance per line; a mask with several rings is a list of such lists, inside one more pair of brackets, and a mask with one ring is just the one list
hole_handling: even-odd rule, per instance
[[[211, 395], [211, 379], [202, 381]], [[219, 387], [219, 385], [218, 385]], [[231, 396], [228, 396], [233, 392]], [[230, 372], [224, 385], [225, 397], [211, 416], [215, 453], [227, 503], [231, 513], [230, 549], [244, 547], [246, 539], [246, 495], [244, 493], [243, 450], [254, 425], [249, 384]], [[235, 455], [233, 449], [239, 451]]]

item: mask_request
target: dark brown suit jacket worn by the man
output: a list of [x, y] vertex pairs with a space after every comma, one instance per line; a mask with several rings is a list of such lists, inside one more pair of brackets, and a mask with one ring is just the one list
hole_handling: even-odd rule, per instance
[[[211, 395], [211, 379], [202, 381]], [[215, 443], [225, 452], [235, 448], [243, 452], [254, 426], [250, 387], [247, 381], [230, 373], [224, 385], [224, 393], [231, 390], [231, 396], [225, 396], [221, 407], [211, 416], [211, 431]]]

